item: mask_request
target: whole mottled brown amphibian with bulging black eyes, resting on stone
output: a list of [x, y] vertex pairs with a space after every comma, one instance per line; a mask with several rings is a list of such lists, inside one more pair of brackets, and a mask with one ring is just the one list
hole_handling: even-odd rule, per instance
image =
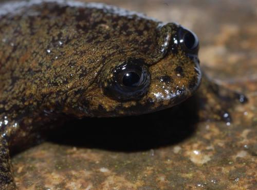
[[111, 5], [2, 3], [0, 189], [17, 188], [10, 154], [69, 118], [147, 114], [198, 94], [230, 122], [225, 105], [247, 98], [208, 79], [198, 50], [189, 29]]

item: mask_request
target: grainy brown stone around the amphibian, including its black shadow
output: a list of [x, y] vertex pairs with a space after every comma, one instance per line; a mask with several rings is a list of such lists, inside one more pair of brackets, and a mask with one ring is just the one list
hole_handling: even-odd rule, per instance
[[[205, 71], [245, 92], [233, 122], [192, 110], [67, 124], [12, 158], [20, 189], [257, 189], [257, 5], [254, 1], [104, 1], [175, 21], [199, 37]], [[169, 112], [170, 113], [170, 112]], [[186, 121], [187, 120], [187, 121]], [[181, 121], [181, 122], [180, 122]], [[183, 122], [182, 122], [183, 121]], [[192, 121], [192, 122], [191, 122]], [[86, 123], [86, 124], [85, 124]], [[90, 123], [90, 124], [88, 124]], [[85, 126], [86, 125], [86, 126]], [[62, 131], [62, 132], [61, 132]]]

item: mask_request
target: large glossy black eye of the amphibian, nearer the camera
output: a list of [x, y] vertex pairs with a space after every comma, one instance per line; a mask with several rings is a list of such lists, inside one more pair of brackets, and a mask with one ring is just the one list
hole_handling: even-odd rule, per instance
[[105, 94], [120, 101], [140, 99], [148, 90], [150, 74], [142, 60], [129, 60], [115, 67], [104, 86]]

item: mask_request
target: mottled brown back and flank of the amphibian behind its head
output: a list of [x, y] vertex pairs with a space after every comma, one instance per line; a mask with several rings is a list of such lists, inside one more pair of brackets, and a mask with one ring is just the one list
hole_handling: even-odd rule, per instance
[[0, 18], [0, 107], [6, 111], [84, 91], [109, 57], [136, 48], [135, 41], [148, 54], [158, 25], [118, 8], [66, 1], [3, 4]]

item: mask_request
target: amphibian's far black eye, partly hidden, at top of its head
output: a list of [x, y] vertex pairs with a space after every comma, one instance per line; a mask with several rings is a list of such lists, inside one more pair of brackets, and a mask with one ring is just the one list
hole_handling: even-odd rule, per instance
[[195, 33], [190, 30], [181, 28], [179, 32], [179, 42], [183, 49], [189, 51], [190, 53], [194, 53], [194, 51], [198, 51], [199, 41]]

